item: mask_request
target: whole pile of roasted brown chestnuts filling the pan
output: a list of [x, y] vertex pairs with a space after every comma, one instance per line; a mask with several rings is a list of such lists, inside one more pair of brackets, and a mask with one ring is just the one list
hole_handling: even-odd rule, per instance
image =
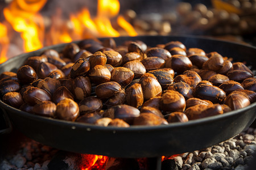
[[22, 111], [98, 126], [166, 125], [224, 114], [256, 99], [242, 62], [179, 41], [86, 39], [28, 57], [0, 75], [1, 100]]

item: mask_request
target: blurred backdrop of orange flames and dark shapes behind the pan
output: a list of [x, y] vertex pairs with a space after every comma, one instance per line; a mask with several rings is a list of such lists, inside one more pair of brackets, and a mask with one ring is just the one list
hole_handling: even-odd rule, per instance
[[0, 63], [86, 38], [200, 35], [256, 45], [256, 0], [0, 0]]

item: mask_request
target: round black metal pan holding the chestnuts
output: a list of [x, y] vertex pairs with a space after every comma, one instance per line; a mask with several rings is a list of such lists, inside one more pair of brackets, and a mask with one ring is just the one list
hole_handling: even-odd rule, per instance
[[[246, 61], [256, 68], [256, 48], [228, 41], [193, 36], [117, 37], [117, 44], [125, 40], [142, 40], [150, 46], [169, 41], [181, 41], [187, 48], [216, 51], [234, 61]], [[45, 49], [61, 50], [65, 44], [48, 46], [36, 52], [21, 54], [0, 65], [0, 73], [17, 69], [27, 57], [38, 56]], [[27, 137], [44, 145], [65, 151], [106, 155], [120, 158], [142, 158], [180, 154], [199, 150], [232, 138], [248, 128], [256, 117], [256, 103], [249, 107], [218, 116], [186, 123], [161, 126], [131, 126], [130, 128], [100, 127], [36, 116], [2, 103], [13, 125]]]

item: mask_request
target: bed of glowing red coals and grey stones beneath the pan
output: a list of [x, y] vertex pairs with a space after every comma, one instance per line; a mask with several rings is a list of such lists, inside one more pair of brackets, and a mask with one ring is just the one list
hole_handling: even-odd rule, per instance
[[94, 159], [94, 155], [48, 147], [16, 129], [0, 137], [0, 169], [255, 169], [256, 129], [253, 127], [202, 150], [164, 158], [106, 158], [104, 162], [97, 160], [93, 165], [90, 159]]

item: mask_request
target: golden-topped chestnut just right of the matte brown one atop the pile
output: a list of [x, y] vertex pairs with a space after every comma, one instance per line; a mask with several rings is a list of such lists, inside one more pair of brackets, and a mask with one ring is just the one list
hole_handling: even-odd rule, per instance
[[107, 64], [112, 65], [113, 67], [118, 67], [122, 63], [122, 56], [118, 52], [112, 51], [104, 51], [103, 52], [107, 58]]

